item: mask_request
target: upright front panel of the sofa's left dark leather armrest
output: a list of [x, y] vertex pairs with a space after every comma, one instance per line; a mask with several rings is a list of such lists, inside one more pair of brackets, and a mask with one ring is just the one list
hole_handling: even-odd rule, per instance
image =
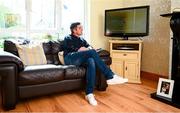
[[17, 102], [17, 65], [0, 64], [2, 106], [5, 110], [14, 109]]

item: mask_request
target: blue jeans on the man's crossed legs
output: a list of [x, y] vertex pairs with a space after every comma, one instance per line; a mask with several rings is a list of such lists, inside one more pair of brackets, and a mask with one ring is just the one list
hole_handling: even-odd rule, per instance
[[64, 61], [67, 65], [87, 66], [86, 94], [93, 93], [96, 79], [96, 66], [105, 75], [106, 79], [112, 79], [114, 75], [94, 49], [69, 53], [65, 56]]

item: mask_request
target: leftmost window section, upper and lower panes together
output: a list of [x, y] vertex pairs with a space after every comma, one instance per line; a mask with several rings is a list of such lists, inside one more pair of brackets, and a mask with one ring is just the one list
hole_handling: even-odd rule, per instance
[[5, 39], [24, 37], [25, 0], [0, 0], [0, 48]]

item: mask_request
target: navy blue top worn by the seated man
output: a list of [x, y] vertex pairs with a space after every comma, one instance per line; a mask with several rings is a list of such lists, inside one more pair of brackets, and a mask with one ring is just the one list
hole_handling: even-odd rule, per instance
[[77, 52], [80, 47], [89, 47], [90, 45], [81, 37], [68, 35], [64, 38], [64, 57], [68, 53]]

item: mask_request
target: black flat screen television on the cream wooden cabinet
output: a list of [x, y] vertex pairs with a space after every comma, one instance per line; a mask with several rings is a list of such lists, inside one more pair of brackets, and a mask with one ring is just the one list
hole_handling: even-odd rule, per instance
[[105, 10], [105, 36], [143, 37], [149, 33], [149, 6]]

